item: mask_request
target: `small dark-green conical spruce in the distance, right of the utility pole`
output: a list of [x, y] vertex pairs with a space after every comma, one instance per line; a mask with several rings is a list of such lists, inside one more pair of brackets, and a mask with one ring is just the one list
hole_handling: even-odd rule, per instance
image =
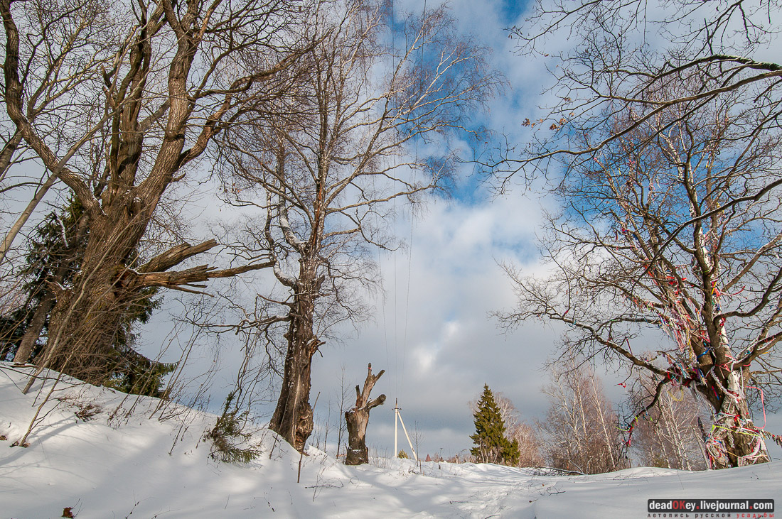
[[475, 447], [470, 450], [479, 463], [497, 463], [515, 465], [520, 455], [518, 440], [512, 442], [505, 437], [505, 422], [500, 407], [487, 384], [483, 385], [483, 394], [478, 402], [475, 418], [475, 434], [470, 436]]

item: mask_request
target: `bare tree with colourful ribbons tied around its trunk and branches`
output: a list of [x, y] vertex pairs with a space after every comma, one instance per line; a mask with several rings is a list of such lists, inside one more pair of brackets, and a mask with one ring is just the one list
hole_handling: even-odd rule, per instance
[[[655, 375], [631, 433], [666, 385], [694, 387], [712, 407], [712, 467], [751, 464], [768, 455], [748, 401], [780, 382], [780, 200], [757, 194], [782, 178], [782, 141], [745, 135], [758, 115], [737, 94], [685, 118], [689, 106], [617, 116], [620, 127], [643, 123], [573, 165], [558, 189], [563, 212], [547, 222], [551, 275], [508, 268], [519, 300], [502, 317], [563, 322], [566, 349]], [[653, 355], [633, 354], [638, 336], [655, 335]]]

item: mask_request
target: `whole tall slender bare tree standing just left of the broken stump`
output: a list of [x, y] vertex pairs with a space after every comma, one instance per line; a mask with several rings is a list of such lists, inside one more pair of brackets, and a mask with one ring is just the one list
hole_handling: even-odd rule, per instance
[[383, 44], [399, 27], [388, 14], [361, 1], [324, 12], [316, 25], [326, 36], [304, 58], [306, 81], [264, 106], [275, 118], [225, 134], [225, 193], [265, 213], [258, 254], [271, 255], [285, 290], [269, 297], [278, 311], [256, 325], [285, 327], [271, 428], [299, 450], [312, 429], [313, 356], [333, 325], [367, 318], [357, 289], [374, 275], [368, 247], [396, 247], [389, 202], [418, 201], [454, 164], [454, 152], [419, 157], [412, 148], [465, 131], [465, 114], [499, 80], [445, 9], [407, 17], [398, 48]]

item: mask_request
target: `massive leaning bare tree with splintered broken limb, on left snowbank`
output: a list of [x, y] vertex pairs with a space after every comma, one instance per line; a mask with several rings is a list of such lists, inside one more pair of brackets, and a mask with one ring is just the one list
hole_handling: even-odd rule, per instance
[[[192, 291], [207, 279], [271, 266], [270, 258], [256, 258], [222, 270], [172, 271], [217, 242], [146, 251], [139, 244], [166, 191], [192, 175], [213, 137], [257, 98], [285, 90], [309, 45], [300, 29], [312, 11], [306, 0], [90, 0], [75, 8], [0, 2], [7, 112], [49, 178], [65, 183], [84, 207], [89, 229], [74, 286], [52, 287], [56, 304], [40, 368], [59, 359], [71, 372], [89, 372], [92, 354], [106, 347], [142, 290]], [[40, 27], [41, 18], [84, 29], [72, 31], [77, 44], [48, 52], [64, 68], [37, 66], [48, 55], [41, 58], [38, 48], [59, 40], [48, 36], [52, 27]], [[88, 30], [93, 23], [102, 34]], [[33, 118], [30, 111], [59, 88], [68, 95]], [[48, 131], [52, 122], [61, 130]]]

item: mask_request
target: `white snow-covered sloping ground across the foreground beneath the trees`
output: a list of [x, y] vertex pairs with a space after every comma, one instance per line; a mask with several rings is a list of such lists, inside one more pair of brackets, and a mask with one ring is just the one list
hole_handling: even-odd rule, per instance
[[256, 460], [218, 463], [210, 457], [211, 443], [203, 441], [214, 415], [176, 407], [161, 421], [160, 413], [149, 418], [159, 400], [126, 398], [73, 380], [59, 382], [29, 446], [9, 448], [50, 389], [41, 391], [38, 383], [23, 395], [27, 372], [0, 364], [2, 519], [62, 517], [66, 507], [79, 519], [653, 517], [647, 514], [651, 498], [782, 496], [780, 462], [716, 472], [633, 468], [544, 477], [491, 464], [418, 467], [377, 459], [346, 467], [311, 447], [297, 483], [299, 454], [265, 429], [253, 439], [263, 451]]

